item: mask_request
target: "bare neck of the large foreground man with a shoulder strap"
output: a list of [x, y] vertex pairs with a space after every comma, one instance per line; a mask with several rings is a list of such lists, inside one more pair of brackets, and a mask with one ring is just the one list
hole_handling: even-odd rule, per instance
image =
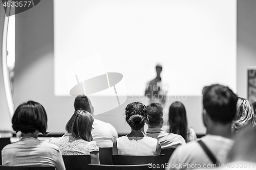
[[207, 127], [206, 134], [217, 135], [226, 138], [233, 138], [231, 132], [231, 123], [230, 124], [213, 124], [211, 127]]

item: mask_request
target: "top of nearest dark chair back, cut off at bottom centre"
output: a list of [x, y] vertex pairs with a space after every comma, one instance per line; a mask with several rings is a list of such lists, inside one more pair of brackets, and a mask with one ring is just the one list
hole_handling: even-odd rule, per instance
[[89, 164], [89, 170], [148, 170], [152, 169], [148, 164], [144, 165], [97, 165]]

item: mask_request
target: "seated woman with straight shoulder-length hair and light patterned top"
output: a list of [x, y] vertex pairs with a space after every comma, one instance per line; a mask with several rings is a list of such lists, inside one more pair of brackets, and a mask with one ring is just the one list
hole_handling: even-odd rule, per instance
[[66, 133], [59, 138], [51, 138], [62, 155], [91, 155], [91, 163], [99, 164], [99, 148], [92, 137], [93, 116], [84, 110], [77, 110], [66, 125]]

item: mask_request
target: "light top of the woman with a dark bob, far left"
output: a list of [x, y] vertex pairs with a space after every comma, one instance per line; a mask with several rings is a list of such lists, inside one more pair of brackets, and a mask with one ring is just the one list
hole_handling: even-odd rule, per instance
[[2, 163], [5, 166], [55, 166], [57, 170], [65, 169], [59, 148], [33, 137], [23, 137], [6, 145], [2, 150]]

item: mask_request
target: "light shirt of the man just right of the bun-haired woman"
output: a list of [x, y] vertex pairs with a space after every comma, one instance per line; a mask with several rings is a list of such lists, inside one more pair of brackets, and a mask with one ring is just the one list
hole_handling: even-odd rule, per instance
[[177, 148], [181, 144], [186, 144], [181, 135], [167, 133], [162, 128], [148, 128], [146, 135], [156, 138], [161, 143], [161, 149]]

